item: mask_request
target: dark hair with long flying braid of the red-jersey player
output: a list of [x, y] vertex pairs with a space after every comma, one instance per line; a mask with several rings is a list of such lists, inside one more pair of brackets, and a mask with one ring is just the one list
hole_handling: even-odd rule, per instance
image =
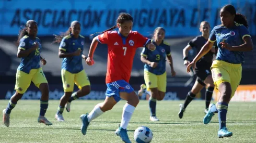
[[[117, 23], [123, 24], [125, 21], [133, 21], [133, 17], [132, 17], [130, 14], [127, 14], [127, 13], [125, 13], [125, 12], [122, 12], [122, 13], [120, 13], [119, 16], [118, 16]], [[107, 30], [102, 31], [102, 32], [96, 32], [96, 33], [94, 33], [94, 34], [91, 34], [91, 36], [92, 36], [92, 35], [95, 35], [95, 34], [101, 34], [101, 33], [104, 33], [104, 32], [106, 32], [106, 31], [112, 31], [112, 30], [114, 30], [114, 29], [116, 29], [116, 28], [118, 28], [118, 26], [117, 26], [117, 25], [114, 25], [114, 26], [111, 27], [110, 29], [107, 29]]]

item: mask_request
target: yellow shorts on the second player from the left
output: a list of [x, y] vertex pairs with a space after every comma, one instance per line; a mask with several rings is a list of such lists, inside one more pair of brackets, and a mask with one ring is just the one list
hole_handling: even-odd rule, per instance
[[79, 89], [82, 89], [82, 87], [84, 86], [90, 85], [90, 81], [87, 74], [85, 73], [85, 70], [82, 70], [78, 73], [71, 73], [62, 69], [61, 77], [64, 92], [73, 92], [74, 83]]

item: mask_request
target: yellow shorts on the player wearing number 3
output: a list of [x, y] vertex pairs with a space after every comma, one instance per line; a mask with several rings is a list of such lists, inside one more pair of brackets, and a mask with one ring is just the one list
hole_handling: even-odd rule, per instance
[[150, 88], [158, 88], [159, 91], [164, 93], [166, 92], [166, 72], [161, 75], [156, 75], [147, 70], [144, 70], [144, 80], [147, 86], [147, 90]]

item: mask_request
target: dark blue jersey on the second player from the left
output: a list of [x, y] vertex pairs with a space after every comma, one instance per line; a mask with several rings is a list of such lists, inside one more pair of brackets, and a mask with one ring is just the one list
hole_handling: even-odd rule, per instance
[[69, 34], [62, 39], [59, 49], [66, 53], [73, 53], [78, 49], [82, 51], [79, 56], [63, 58], [61, 69], [71, 73], [78, 73], [83, 70], [82, 54], [84, 50], [84, 41], [85, 37], [79, 35], [78, 38], [75, 38], [72, 34]]

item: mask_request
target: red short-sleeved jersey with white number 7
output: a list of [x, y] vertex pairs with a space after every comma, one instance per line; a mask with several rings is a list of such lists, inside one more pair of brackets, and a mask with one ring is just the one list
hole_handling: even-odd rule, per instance
[[106, 83], [124, 80], [129, 83], [133, 58], [136, 49], [150, 40], [136, 31], [124, 37], [117, 31], [107, 31], [97, 37], [102, 44], [108, 45], [108, 66]]

